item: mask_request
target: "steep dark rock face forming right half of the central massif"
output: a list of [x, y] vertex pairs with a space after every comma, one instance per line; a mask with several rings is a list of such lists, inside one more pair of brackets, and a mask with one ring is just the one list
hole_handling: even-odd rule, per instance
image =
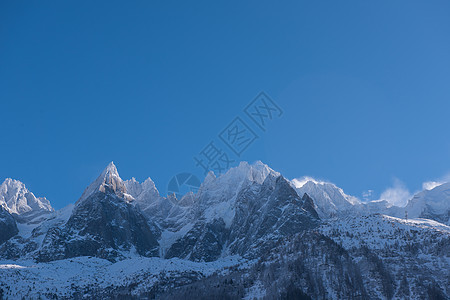
[[230, 253], [257, 257], [280, 238], [319, 225], [311, 198], [300, 198], [282, 176], [268, 176], [262, 185], [242, 190], [231, 225]]

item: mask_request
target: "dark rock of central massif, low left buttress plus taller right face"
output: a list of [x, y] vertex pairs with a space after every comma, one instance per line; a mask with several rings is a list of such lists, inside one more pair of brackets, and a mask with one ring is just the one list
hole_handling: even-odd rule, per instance
[[200, 214], [191, 230], [168, 249], [166, 257], [212, 261], [225, 254], [255, 258], [279, 239], [319, 225], [308, 195], [300, 198], [282, 176], [268, 175], [238, 191], [227, 226], [223, 218]]

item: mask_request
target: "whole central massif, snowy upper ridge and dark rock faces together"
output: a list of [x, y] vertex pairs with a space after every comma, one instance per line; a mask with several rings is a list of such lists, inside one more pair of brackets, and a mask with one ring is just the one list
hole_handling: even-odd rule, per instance
[[[197, 221], [169, 248], [167, 258], [213, 261], [224, 254], [255, 258], [280, 238], [319, 225], [312, 199], [306, 194], [300, 198], [281, 175], [248, 165], [239, 168], [240, 180], [233, 185], [237, 189], [211, 193], [210, 188], [217, 186], [214, 181], [201, 188], [194, 200]], [[222, 197], [225, 201], [216, 202]]]

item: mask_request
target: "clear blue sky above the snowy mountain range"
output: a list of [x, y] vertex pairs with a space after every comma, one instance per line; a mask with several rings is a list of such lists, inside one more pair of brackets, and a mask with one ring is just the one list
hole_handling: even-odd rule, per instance
[[[240, 159], [361, 197], [450, 171], [448, 1], [2, 1], [0, 179], [56, 208], [193, 156], [265, 91]], [[236, 157], [235, 157], [236, 159]], [[201, 174], [201, 173], [200, 173]]]

